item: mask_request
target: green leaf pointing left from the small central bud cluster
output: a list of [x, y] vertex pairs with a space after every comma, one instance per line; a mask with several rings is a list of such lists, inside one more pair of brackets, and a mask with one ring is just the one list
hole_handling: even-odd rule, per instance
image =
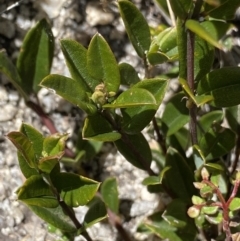
[[56, 92], [65, 100], [86, 111], [89, 115], [97, 111], [97, 107], [92, 104], [82, 86], [71, 78], [52, 74], [42, 80], [41, 86]]

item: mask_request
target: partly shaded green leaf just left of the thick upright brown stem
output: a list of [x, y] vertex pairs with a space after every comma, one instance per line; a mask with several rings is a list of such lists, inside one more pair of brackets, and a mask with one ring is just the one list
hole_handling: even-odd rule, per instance
[[189, 111], [186, 107], [183, 93], [174, 95], [166, 104], [162, 115], [162, 128], [167, 136], [177, 132], [189, 121]]

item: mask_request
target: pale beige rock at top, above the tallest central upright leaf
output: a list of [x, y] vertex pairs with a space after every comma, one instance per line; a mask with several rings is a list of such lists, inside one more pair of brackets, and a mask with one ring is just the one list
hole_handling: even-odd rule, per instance
[[87, 23], [90, 26], [110, 24], [114, 20], [114, 15], [110, 12], [104, 12], [101, 5], [88, 3], [86, 8]]

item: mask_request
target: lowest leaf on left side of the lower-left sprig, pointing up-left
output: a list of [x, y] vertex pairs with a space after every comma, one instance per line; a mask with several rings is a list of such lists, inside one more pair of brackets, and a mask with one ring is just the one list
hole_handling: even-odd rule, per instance
[[65, 211], [61, 206], [57, 206], [56, 208], [45, 208], [28, 205], [28, 207], [44, 221], [50, 223], [56, 228], [59, 228], [63, 232], [73, 233], [77, 231], [72, 220], [65, 214]]

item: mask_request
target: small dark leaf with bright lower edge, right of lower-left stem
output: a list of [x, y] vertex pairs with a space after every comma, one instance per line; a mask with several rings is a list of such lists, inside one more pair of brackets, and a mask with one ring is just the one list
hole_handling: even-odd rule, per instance
[[84, 228], [89, 228], [105, 218], [107, 218], [107, 210], [105, 204], [100, 199], [96, 199], [84, 217]]

